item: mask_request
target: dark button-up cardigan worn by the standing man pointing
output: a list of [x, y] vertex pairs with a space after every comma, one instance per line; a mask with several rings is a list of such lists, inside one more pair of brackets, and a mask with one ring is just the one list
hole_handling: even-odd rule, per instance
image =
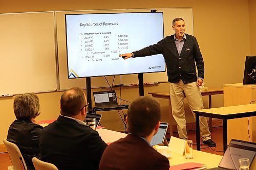
[[147, 46], [133, 52], [134, 57], [163, 54], [165, 59], [168, 82], [178, 83], [181, 79], [184, 84], [196, 82], [198, 77], [204, 78], [204, 61], [196, 37], [186, 34], [181, 54], [177, 51], [174, 35], [167, 36], [157, 44]]

